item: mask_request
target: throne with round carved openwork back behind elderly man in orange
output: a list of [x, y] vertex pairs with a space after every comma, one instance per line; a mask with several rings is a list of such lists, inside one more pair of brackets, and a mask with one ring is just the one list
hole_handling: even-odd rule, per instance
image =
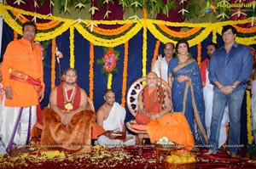
[[[128, 110], [130, 111], [131, 115], [135, 116], [137, 115], [137, 98], [138, 94], [143, 90], [143, 88], [146, 86], [146, 76], [143, 76], [137, 81], [133, 82], [131, 84], [131, 87], [128, 90], [127, 97], [126, 97], [126, 104], [128, 107]], [[163, 79], [160, 79], [158, 77], [158, 85], [163, 87], [165, 90], [167, 90], [169, 93], [171, 93], [171, 87], [168, 85], [166, 81]], [[146, 130], [146, 125], [137, 125], [136, 121], [128, 121], [126, 122], [126, 127], [129, 131], [133, 132], [137, 139], [136, 144], [138, 146], [138, 155], [143, 155], [143, 141], [144, 138], [148, 137], [148, 132]], [[139, 129], [138, 129], [139, 127]]]

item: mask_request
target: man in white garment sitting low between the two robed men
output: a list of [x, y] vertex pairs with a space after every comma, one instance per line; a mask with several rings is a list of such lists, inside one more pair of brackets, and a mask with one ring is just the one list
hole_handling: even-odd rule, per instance
[[106, 132], [98, 138], [98, 144], [109, 147], [134, 145], [134, 136], [128, 134], [125, 128], [125, 108], [115, 102], [115, 94], [112, 89], [105, 91], [104, 100], [105, 103], [97, 111], [97, 123]]

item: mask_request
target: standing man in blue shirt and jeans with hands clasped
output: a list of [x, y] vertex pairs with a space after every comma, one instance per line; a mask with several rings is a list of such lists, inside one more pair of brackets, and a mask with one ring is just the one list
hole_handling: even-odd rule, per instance
[[252, 54], [245, 45], [235, 41], [236, 28], [225, 25], [222, 30], [224, 45], [218, 48], [210, 59], [209, 79], [214, 85], [212, 122], [206, 155], [215, 154], [218, 149], [219, 128], [224, 107], [229, 106], [230, 133], [228, 149], [232, 158], [237, 157], [240, 147], [241, 103], [246, 84], [253, 69]]

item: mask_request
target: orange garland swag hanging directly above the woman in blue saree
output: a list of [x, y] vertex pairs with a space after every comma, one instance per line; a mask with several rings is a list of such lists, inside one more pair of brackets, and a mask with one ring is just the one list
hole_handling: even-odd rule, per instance
[[194, 27], [190, 29], [189, 31], [172, 31], [170, 28], [168, 28], [166, 25], [158, 25], [159, 28], [166, 32], [167, 34], [171, 35], [172, 37], [190, 37], [201, 30], [201, 27]]

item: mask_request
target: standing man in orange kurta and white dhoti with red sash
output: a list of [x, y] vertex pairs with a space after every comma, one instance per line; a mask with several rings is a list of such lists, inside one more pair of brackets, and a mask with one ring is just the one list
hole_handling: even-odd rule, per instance
[[11, 156], [28, 152], [25, 147], [37, 119], [36, 107], [44, 99], [42, 51], [34, 42], [37, 27], [33, 22], [26, 22], [22, 32], [23, 37], [10, 42], [3, 55], [6, 90], [1, 128], [6, 152]]

